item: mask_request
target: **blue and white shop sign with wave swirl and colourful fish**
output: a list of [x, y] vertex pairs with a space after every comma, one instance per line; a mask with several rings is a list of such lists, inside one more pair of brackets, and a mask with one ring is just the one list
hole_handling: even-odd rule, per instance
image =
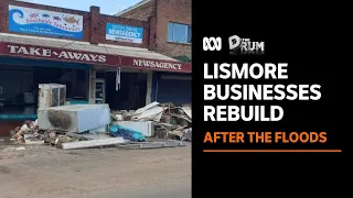
[[9, 4], [9, 31], [81, 40], [83, 16]]

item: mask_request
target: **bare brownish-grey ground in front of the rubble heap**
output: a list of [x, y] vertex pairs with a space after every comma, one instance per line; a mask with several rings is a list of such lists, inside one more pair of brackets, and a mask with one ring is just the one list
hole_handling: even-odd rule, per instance
[[[0, 146], [1, 198], [191, 197], [191, 146], [63, 151]], [[21, 145], [22, 146], [22, 145]]]

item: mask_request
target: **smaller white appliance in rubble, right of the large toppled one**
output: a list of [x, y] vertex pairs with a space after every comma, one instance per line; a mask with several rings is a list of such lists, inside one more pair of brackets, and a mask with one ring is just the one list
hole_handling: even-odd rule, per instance
[[141, 132], [145, 136], [154, 136], [154, 125], [152, 121], [133, 122], [133, 121], [118, 121], [117, 124]]

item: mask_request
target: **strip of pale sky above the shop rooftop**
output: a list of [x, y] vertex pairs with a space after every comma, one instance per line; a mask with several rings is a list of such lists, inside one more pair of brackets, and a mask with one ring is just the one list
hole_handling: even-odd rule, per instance
[[90, 6], [100, 7], [100, 13], [115, 14], [141, 0], [19, 0], [46, 4], [53, 7], [68, 8], [75, 10], [89, 11]]

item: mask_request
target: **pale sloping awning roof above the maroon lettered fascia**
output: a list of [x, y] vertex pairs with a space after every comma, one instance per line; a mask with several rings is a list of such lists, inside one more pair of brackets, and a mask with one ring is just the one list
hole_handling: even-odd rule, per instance
[[148, 51], [147, 48], [141, 48], [141, 47], [128, 47], [128, 46], [106, 45], [106, 44], [93, 45], [88, 42], [47, 38], [47, 37], [8, 34], [8, 33], [0, 33], [0, 42], [41, 45], [41, 46], [66, 48], [66, 50], [73, 50], [73, 51], [85, 51], [85, 52], [100, 53], [100, 54], [111, 54], [111, 55], [132, 56], [132, 57], [140, 57], [140, 58], [152, 58], [152, 59], [179, 62], [174, 58], [171, 58], [165, 55], [156, 53], [153, 51]]

